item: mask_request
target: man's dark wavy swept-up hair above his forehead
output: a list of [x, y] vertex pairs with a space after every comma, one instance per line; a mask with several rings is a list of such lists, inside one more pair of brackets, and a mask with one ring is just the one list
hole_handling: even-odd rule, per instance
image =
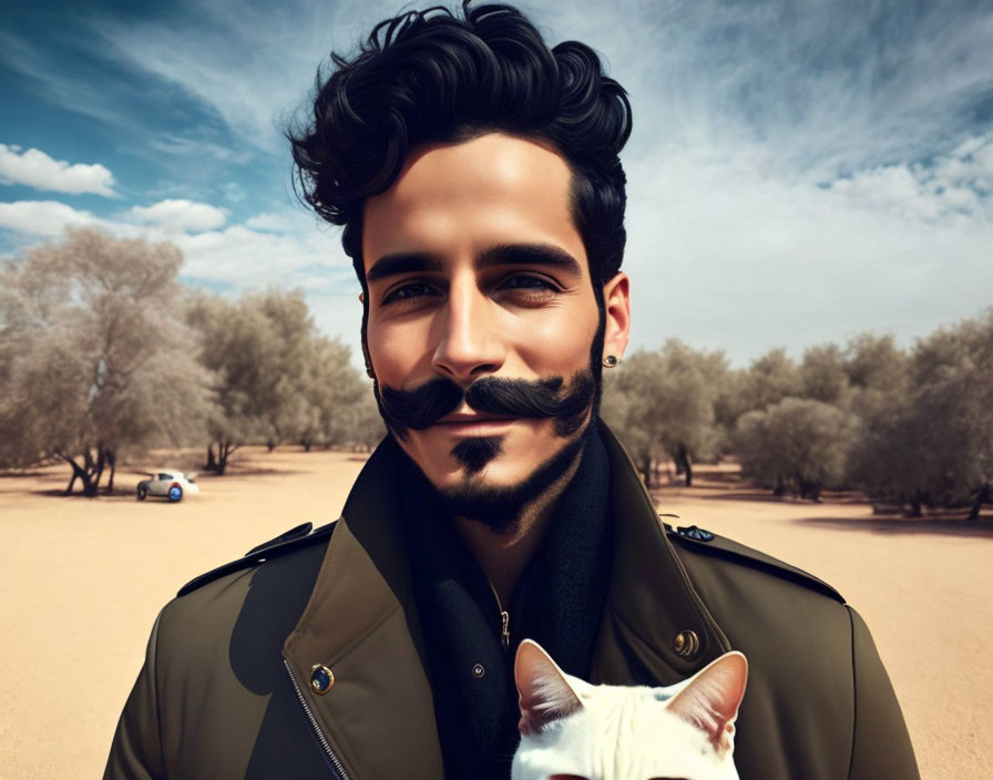
[[331, 65], [330, 75], [318, 70], [313, 115], [287, 131], [294, 186], [345, 226], [364, 288], [365, 199], [396, 182], [412, 148], [488, 132], [551, 142], [573, 174], [572, 217], [591, 276], [604, 283], [617, 273], [631, 104], [590, 47], [550, 50], [518, 9], [463, 0], [461, 17], [432, 7], [387, 19], [351, 59], [332, 53]]

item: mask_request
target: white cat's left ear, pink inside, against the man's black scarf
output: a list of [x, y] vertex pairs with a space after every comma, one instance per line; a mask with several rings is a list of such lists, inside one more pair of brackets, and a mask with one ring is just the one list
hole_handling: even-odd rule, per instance
[[514, 681], [521, 697], [522, 735], [538, 733], [583, 706], [566, 677], [536, 642], [521, 643], [514, 658]]

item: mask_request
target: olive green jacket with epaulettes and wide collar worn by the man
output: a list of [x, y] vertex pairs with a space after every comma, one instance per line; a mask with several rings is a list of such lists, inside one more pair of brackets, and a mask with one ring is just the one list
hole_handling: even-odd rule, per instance
[[[664, 526], [624, 450], [601, 435], [615, 541], [592, 681], [670, 685], [738, 649], [743, 780], [918, 778], [859, 615], [799, 569]], [[106, 778], [442, 777], [395, 472], [381, 445], [336, 523], [274, 540], [166, 605]], [[323, 694], [315, 665], [334, 674]]]

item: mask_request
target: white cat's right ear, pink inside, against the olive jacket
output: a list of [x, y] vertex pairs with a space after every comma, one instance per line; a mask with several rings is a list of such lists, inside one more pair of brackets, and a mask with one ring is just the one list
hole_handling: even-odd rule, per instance
[[690, 678], [667, 709], [707, 735], [717, 752], [734, 747], [735, 718], [745, 696], [748, 661], [733, 650]]

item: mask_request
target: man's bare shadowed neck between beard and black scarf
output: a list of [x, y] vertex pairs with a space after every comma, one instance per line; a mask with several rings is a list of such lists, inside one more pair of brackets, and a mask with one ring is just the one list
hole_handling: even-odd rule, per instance
[[510, 604], [521, 573], [541, 547], [557, 499], [575, 475], [581, 459], [582, 454], [549, 490], [522, 506], [518, 521], [504, 533], [496, 533], [474, 520], [455, 517], [455, 528], [462, 542], [475, 557], [502, 605]]

